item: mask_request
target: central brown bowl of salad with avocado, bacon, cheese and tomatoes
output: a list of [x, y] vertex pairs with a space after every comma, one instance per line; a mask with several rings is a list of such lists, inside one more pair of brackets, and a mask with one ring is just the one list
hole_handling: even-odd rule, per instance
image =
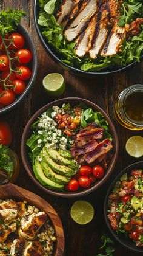
[[[79, 159], [76, 158], [78, 160], [75, 160], [75, 159], [73, 159], [74, 157], [71, 156], [70, 150], [67, 150], [65, 148], [65, 145], [63, 145], [63, 142], [65, 140], [68, 140], [67, 134], [69, 135], [69, 133], [73, 133], [73, 131], [75, 131], [75, 130], [69, 130], [69, 128], [68, 129], [65, 128], [65, 130], [62, 130], [61, 133], [64, 136], [64, 139], [63, 139], [63, 137], [60, 139], [60, 141], [62, 141], [61, 144], [60, 144], [60, 147], [62, 149], [59, 148], [59, 150], [55, 151], [55, 149], [53, 148], [52, 151], [51, 151], [51, 148], [49, 148], [50, 147], [49, 145], [52, 145], [52, 147], [53, 147], [53, 142], [54, 141], [57, 142], [56, 139], [58, 139], [58, 137], [56, 137], [56, 138], [52, 137], [52, 139], [50, 139], [50, 137], [53, 136], [53, 135], [50, 135], [50, 137], [48, 137], [48, 140], [50, 140], [51, 142], [50, 142], [50, 144], [48, 144], [48, 146], [46, 146], [46, 148], [45, 148], [45, 146], [43, 147], [41, 145], [38, 145], [39, 142], [41, 143], [41, 139], [39, 140], [39, 136], [43, 136], [43, 135], [41, 135], [41, 131], [38, 131], [37, 135], [35, 134], [35, 131], [34, 131], [34, 134], [33, 134], [32, 133], [32, 127], [33, 127], [32, 125], [34, 123], [34, 126], [35, 126], [39, 122], [38, 121], [39, 116], [42, 116], [42, 120], [43, 120], [43, 118], [45, 119], [47, 109], [48, 109], [48, 112], [49, 112], [49, 111], [51, 111], [52, 108], [55, 108], [55, 106], [60, 107], [60, 106], [63, 106], [63, 104], [64, 104], [65, 108], [67, 108], [66, 107], [67, 105], [71, 105], [71, 108], [73, 109], [73, 107], [75, 108], [75, 106], [79, 105], [79, 103], [80, 103], [80, 105], [86, 106], [86, 109], [90, 110], [92, 113], [94, 111], [95, 111], [96, 114], [97, 114], [97, 112], [100, 113], [99, 115], [101, 116], [102, 122], [104, 122], [105, 125], [108, 124], [108, 130], [110, 131], [111, 136], [112, 136], [112, 142], [108, 138], [106, 138], [105, 140], [102, 139], [103, 141], [101, 141], [101, 143], [99, 141], [100, 139], [98, 139], [98, 142], [96, 142], [94, 139], [91, 139], [91, 138], [90, 138], [90, 142], [88, 140], [86, 140], [86, 143], [87, 143], [86, 145], [88, 145], [88, 148], [89, 148], [89, 146], [92, 147], [92, 149], [90, 148], [90, 150], [88, 150], [88, 151], [93, 150], [94, 148], [96, 148], [97, 145], [98, 145], [98, 148], [101, 147], [101, 149], [103, 150], [103, 147], [104, 146], [106, 147], [107, 144], [108, 144], [108, 146], [107, 146], [107, 148], [109, 147], [108, 151], [110, 151], [110, 148], [111, 148], [111, 157], [110, 157], [110, 160], [108, 159], [108, 165], [107, 165], [107, 168], [104, 172], [104, 175], [102, 176], [102, 179], [97, 178], [96, 182], [93, 181], [93, 182], [90, 182], [90, 184], [88, 184], [89, 181], [87, 180], [87, 184], [85, 184], [85, 185], [81, 184], [81, 187], [79, 187], [79, 184], [77, 184], [78, 182], [76, 181], [76, 185], [78, 185], [78, 188], [74, 189], [74, 187], [73, 187], [73, 189], [71, 189], [69, 191], [68, 189], [66, 190], [65, 187], [66, 187], [66, 185], [69, 185], [70, 180], [73, 181], [73, 178], [78, 180], [79, 177], [77, 177], [77, 173], [79, 173], [79, 169], [80, 169], [81, 165], [83, 165], [83, 164], [80, 165], [80, 164], [78, 164], [79, 162], [77, 162], [77, 161], [79, 161], [79, 160], [82, 161], [83, 160], [82, 156], [84, 156], [84, 154], [85, 154], [85, 152], [84, 153], [82, 152], [82, 154], [80, 153], [81, 158], [80, 158], [80, 156], [76, 156], [76, 157], [79, 157]], [[65, 105], [65, 104], [67, 104], [67, 105]], [[81, 107], [78, 107], [78, 109], [80, 109], [80, 108]], [[65, 116], [66, 117], [68, 116], [68, 121], [69, 121], [69, 115], [64, 114], [64, 119], [65, 119]], [[73, 119], [73, 117], [71, 117], [71, 118]], [[49, 119], [49, 117], [48, 117], [48, 119]], [[63, 117], [62, 117], [62, 119], [63, 119]], [[76, 119], [77, 119], [77, 117], [76, 117]], [[105, 120], [103, 120], [103, 119], [105, 119]], [[50, 118], [49, 120], [52, 120], [52, 119]], [[54, 123], [55, 123], [55, 121], [54, 121]], [[63, 123], [61, 123], [61, 125], [63, 125]], [[91, 123], [90, 123], [90, 125], [91, 125]], [[41, 124], [39, 126], [41, 126]], [[69, 127], [69, 125], [68, 125], [68, 127]], [[83, 131], [83, 130], [87, 129], [88, 130], [87, 133], [89, 134], [90, 133], [90, 128], [91, 128], [91, 132], [93, 131], [94, 133], [101, 134], [104, 129], [102, 127], [100, 127], [100, 128], [97, 128], [97, 127], [98, 127], [97, 123], [93, 123], [92, 126], [88, 126], [87, 128], [82, 128], [80, 131]], [[60, 129], [56, 129], [56, 131], [58, 131], [58, 133], [59, 133], [59, 130]], [[87, 133], [85, 133], [85, 134], [87, 134]], [[105, 131], [105, 133], [106, 133], [106, 131]], [[55, 132], [53, 134], [54, 134], [54, 136], [56, 136]], [[74, 136], [76, 136], [76, 132], [74, 132], [74, 134], [72, 136], [73, 138], [74, 138]], [[37, 137], [36, 137], [36, 143], [34, 142], [34, 144], [33, 144], [33, 136], [35, 137], [35, 135], [38, 136], [38, 140], [37, 140]], [[102, 137], [102, 135], [100, 135], [100, 136]], [[65, 139], [65, 137], [67, 139]], [[44, 140], [44, 142], [45, 141], [47, 141], [47, 137], [46, 137], [46, 140]], [[71, 143], [71, 134], [70, 134], [70, 137], [69, 137], [68, 141], [69, 141], [69, 144], [70, 144]], [[79, 143], [83, 143], [83, 141], [81, 141]], [[73, 144], [73, 142], [72, 142], [72, 144]], [[84, 144], [85, 144], [85, 142], [84, 142]], [[35, 148], [36, 151], [35, 151], [35, 149], [34, 149], [34, 151], [30, 150], [31, 145], [34, 145], [34, 147], [36, 147]], [[68, 147], [68, 145], [66, 147]], [[69, 147], [71, 148], [73, 146], [69, 145]], [[84, 148], [85, 148], [85, 150], [87, 150], [87, 147], [82, 147], [80, 149], [83, 150]], [[43, 150], [45, 150], [47, 152], [44, 152]], [[32, 164], [33, 159], [31, 159], [32, 161], [30, 161], [29, 156], [30, 156], [31, 153], [32, 153], [32, 156], [33, 156], [33, 152], [35, 152], [37, 154], [37, 151], [38, 151], [38, 158], [37, 158], [38, 161], [36, 161], [36, 162], [34, 161], [34, 163]], [[45, 154], [46, 154], [46, 157], [44, 158], [45, 161], [46, 161], [46, 164], [45, 164], [45, 162], [44, 163], [41, 162], [43, 160], [43, 157], [41, 157], [41, 153], [39, 153], [39, 152], [44, 152], [44, 157], [45, 157]], [[59, 156], [59, 153], [61, 154], [62, 157]], [[68, 154], [68, 156], [67, 156], [67, 154]], [[69, 156], [69, 154], [70, 154], [70, 156]], [[97, 154], [97, 151], [96, 151], [96, 154]], [[102, 151], [101, 154], [102, 154], [102, 156], [106, 155], [106, 153], [103, 154], [103, 151]], [[66, 155], [67, 159], [65, 159], [65, 155]], [[48, 158], [49, 156], [50, 156], [50, 158]], [[115, 167], [116, 160], [117, 160], [117, 157], [118, 157], [118, 136], [116, 134], [115, 127], [113, 126], [113, 123], [111, 122], [110, 118], [107, 116], [107, 114], [101, 108], [99, 108], [99, 106], [97, 106], [97, 105], [95, 105], [95, 103], [90, 102], [90, 101], [85, 100], [85, 99], [70, 98], [69, 97], [69, 98], [65, 98], [65, 99], [56, 100], [55, 102], [52, 102], [52, 103], [48, 103], [47, 105], [45, 105], [41, 109], [39, 109], [33, 115], [33, 117], [28, 121], [27, 125], [25, 126], [24, 133], [22, 134], [21, 157], [22, 157], [22, 162], [23, 162], [24, 168], [27, 171], [30, 178], [32, 179], [32, 181], [35, 182], [35, 184], [38, 185], [38, 187], [40, 187], [45, 192], [50, 193], [50, 194], [55, 195], [55, 196], [62, 196], [62, 197], [83, 196], [83, 195], [86, 195], [90, 192], [93, 192], [94, 190], [101, 187], [101, 185], [104, 184], [107, 181], [107, 179], [110, 177], [111, 172], [113, 171], [113, 169]], [[35, 156], [34, 156], [34, 158], [35, 158]], [[105, 157], [103, 157], [103, 158], [105, 160]], [[70, 163], [69, 163], [69, 161], [70, 161]], [[53, 162], [54, 162], [54, 164], [53, 164]], [[61, 162], [62, 162], [62, 164], [61, 164]], [[55, 165], [55, 163], [56, 163], [56, 165]], [[68, 165], [68, 163], [69, 163], [69, 165]], [[48, 179], [52, 179], [52, 182], [50, 181], [50, 183], [47, 184], [47, 182], [48, 182], [47, 179], [46, 180], [44, 179], [44, 181], [41, 180], [41, 177], [39, 177], [39, 172], [41, 172], [41, 166], [39, 166], [39, 164], [42, 165], [42, 170], [44, 170], [44, 175], [46, 175]], [[32, 165], [33, 165], [33, 167], [32, 167]], [[47, 166], [47, 165], [49, 165], [49, 166]], [[67, 166], [63, 167], [63, 165], [67, 165]], [[90, 165], [90, 164], [86, 164], [86, 165]], [[93, 165], [95, 165], [95, 162], [93, 162], [93, 164], [91, 164], [88, 169], [92, 170]], [[85, 164], [84, 164], [84, 166], [85, 166]], [[40, 168], [40, 170], [39, 170], [39, 168]], [[47, 168], [48, 168], [48, 171], [47, 171]], [[55, 173], [53, 173], [53, 171], [51, 169], [54, 172], [58, 173], [58, 176], [55, 176]], [[102, 170], [103, 170], [103, 168], [102, 168]], [[50, 173], [49, 173], [49, 171], [50, 171]], [[64, 173], [64, 180], [62, 179], [62, 181], [64, 181], [64, 182], [61, 182], [61, 177], [62, 177], [61, 175], [63, 175], [63, 173]], [[91, 176], [93, 177], [93, 175], [91, 175]], [[43, 173], [42, 173], [42, 177], [43, 177]], [[81, 179], [82, 178], [83, 178], [83, 176], [81, 176]], [[84, 173], [84, 178], [87, 178], [87, 177], [85, 177], [85, 173]], [[60, 179], [60, 181], [59, 181], [59, 179]], [[56, 188], [55, 188], [55, 183], [53, 184], [53, 181], [59, 183], [58, 185], [56, 185]], [[63, 184], [65, 184], [65, 187], [64, 187]]]

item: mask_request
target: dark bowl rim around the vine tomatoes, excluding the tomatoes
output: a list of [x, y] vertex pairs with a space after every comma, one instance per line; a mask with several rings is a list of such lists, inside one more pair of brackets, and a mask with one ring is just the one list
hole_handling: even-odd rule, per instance
[[18, 28], [16, 29], [16, 32], [21, 33], [21, 35], [24, 36], [24, 39], [25, 39], [24, 47], [29, 49], [30, 52], [32, 52], [32, 61], [30, 62], [30, 69], [32, 70], [32, 76], [30, 77], [30, 80], [28, 80], [25, 91], [21, 95], [18, 95], [12, 104], [10, 104], [8, 106], [4, 106], [4, 108], [0, 109], [0, 114], [11, 110], [16, 105], [18, 105], [18, 103], [21, 102], [22, 99], [24, 99], [25, 95], [27, 95], [28, 91], [30, 91], [30, 89], [32, 88], [32, 86], [36, 80], [38, 59], [37, 59], [35, 45], [32, 41], [32, 38], [30, 37], [30, 35], [28, 35], [28, 33], [24, 29], [24, 27], [19, 25]]

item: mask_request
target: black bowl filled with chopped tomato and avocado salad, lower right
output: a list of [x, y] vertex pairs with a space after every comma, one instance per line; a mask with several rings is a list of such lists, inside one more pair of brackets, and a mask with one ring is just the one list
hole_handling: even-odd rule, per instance
[[[139, 176], [139, 172], [141, 172], [142, 169], [143, 169], [143, 161], [136, 162], [135, 164], [131, 164], [128, 167], [124, 168], [124, 170], [122, 170], [119, 173], [119, 175], [116, 176], [115, 180], [111, 183], [111, 185], [110, 185], [110, 187], [107, 191], [105, 201], [104, 201], [104, 217], [105, 217], [105, 221], [107, 223], [108, 229], [110, 230], [113, 237], [115, 237], [115, 239], [119, 243], [121, 243], [123, 246], [127, 247], [128, 249], [130, 249], [132, 251], [140, 252], [141, 254], [143, 253], [143, 248], [140, 247], [141, 246], [141, 235], [142, 235], [142, 224], [139, 223], [139, 220], [140, 220], [140, 218], [142, 220], [142, 217], [141, 217], [140, 214], [138, 215], [138, 211], [136, 212], [138, 207], [137, 208], [135, 207], [138, 204], [138, 198], [141, 199], [141, 197], [139, 197], [139, 194], [138, 194], [139, 187], [137, 188], [136, 186], [135, 187], [129, 186], [130, 189], [129, 189], [129, 187], [126, 187], [126, 189], [128, 189], [128, 190], [126, 190], [126, 193], [125, 193], [124, 196], [121, 195], [121, 198], [120, 198], [121, 200], [119, 199], [118, 206], [119, 205], [123, 206], [124, 207], [123, 209], [126, 209], [125, 207], [127, 207], [127, 204], [128, 204], [128, 207], [130, 208], [129, 212], [126, 209], [127, 212], [130, 213], [129, 217], [127, 217], [127, 216], [125, 217], [125, 214], [121, 213], [122, 211], [118, 212], [118, 213], [122, 214], [121, 216], [124, 215], [124, 218], [121, 218], [121, 216], [118, 216], [119, 219], [116, 219], [116, 220], [120, 220], [120, 224], [118, 223], [118, 229], [119, 230], [121, 229], [122, 221], [124, 222], [124, 223], [122, 223], [122, 230], [120, 230], [121, 232], [119, 232], [119, 230], [116, 229], [116, 226], [113, 227], [114, 226], [113, 223], [112, 223], [113, 226], [111, 225], [111, 220], [114, 221], [115, 219], [111, 218], [112, 213], [111, 213], [111, 210], [110, 210], [108, 200], [109, 200], [110, 195], [112, 195], [112, 199], [113, 199], [113, 193], [115, 193], [115, 185], [117, 184], [116, 182], [119, 182], [119, 181], [122, 181], [122, 182], [125, 181], [126, 182], [125, 179], [128, 177], [129, 178], [128, 181], [130, 181], [130, 183], [128, 183], [128, 185], [129, 184], [131, 185], [131, 182], [132, 182], [131, 181], [132, 178], [130, 178], [131, 175], [132, 175], [132, 177], [134, 176], [133, 181], [138, 182], [139, 177], [141, 179], [141, 176]], [[127, 176], [126, 176], [126, 173], [127, 173]], [[126, 178], [125, 178], [125, 176], [126, 176]], [[135, 189], [135, 192], [131, 191], [131, 190], [134, 190], [134, 189]], [[140, 187], [140, 189], [141, 189], [141, 187]], [[122, 188], [122, 191], [124, 191], [124, 187]], [[125, 198], [125, 196], [126, 196], [126, 198]], [[127, 196], [128, 196], [128, 198], [127, 198]], [[136, 199], [137, 196], [138, 196], [138, 198]], [[111, 200], [111, 197], [110, 197], [110, 200]], [[112, 201], [112, 204], [114, 204], [113, 201]], [[131, 210], [131, 212], [130, 212], [130, 210]], [[109, 218], [108, 218], [108, 216], [109, 216]], [[130, 220], [129, 221], [126, 220], [127, 218], [129, 218]], [[115, 222], [116, 222], [116, 220], [115, 220]], [[130, 223], [131, 223], [131, 226], [130, 226]], [[118, 232], [116, 232], [116, 230], [118, 230]], [[128, 232], [130, 234], [128, 234]], [[137, 232], [137, 234], [136, 234], [136, 232]]]

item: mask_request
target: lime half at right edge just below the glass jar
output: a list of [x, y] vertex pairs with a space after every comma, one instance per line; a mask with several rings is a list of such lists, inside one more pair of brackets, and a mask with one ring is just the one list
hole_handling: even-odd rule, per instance
[[143, 156], [143, 137], [133, 136], [127, 140], [125, 149], [130, 156], [139, 158]]

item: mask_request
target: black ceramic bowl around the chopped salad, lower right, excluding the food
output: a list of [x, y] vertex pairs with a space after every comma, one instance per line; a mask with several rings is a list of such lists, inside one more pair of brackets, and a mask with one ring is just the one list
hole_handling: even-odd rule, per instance
[[126, 238], [124, 234], [121, 234], [121, 233], [117, 234], [116, 231], [112, 229], [110, 220], [107, 217], [107, 215], [108, 215], [108, 212], [107, 212], [108, 211], [108, 196], [111, 194], [116, 182], [119, 181], [119, 179], [121, 178], [121, 176], [124, 173], [128, 173], [128, 175], [130, 175], [132, 170], [142, 169], [142, 168], [143, 168], [143, 161], [136, 162], [135, 164], [131, 164], [128, 167], [126, 167], [124, 170], [122, 170], [121, 173], [119, 173], [119, 175], [116, 177], [116, 179], [111, 183], [111, 185], [108, 189], [108, 192], [106, 194], [105, 201], [104, 201], [104, 216], [105, 216], [105, 221], [107, 223], [108, 229], [110, 230], [111, 234], [116, 238], [116, 240], [119, 243], [121, 243], [123, 246], [127, 247], [128, 249], [133, 250], [135, 252], [141, 252], [143, 255], [143, 248], [136, 247], [136, 244], [130, 238]]

